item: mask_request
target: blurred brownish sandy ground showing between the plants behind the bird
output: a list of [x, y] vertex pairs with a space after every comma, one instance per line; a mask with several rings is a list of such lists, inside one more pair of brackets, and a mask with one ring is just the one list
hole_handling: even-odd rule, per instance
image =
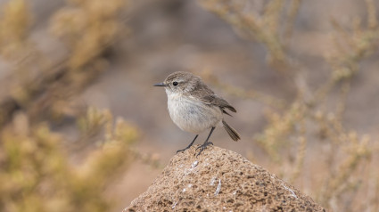
[[[0, 5], [4, 2], [1, 0]], [[49, 35], [46, 25], [64, 1], [30, 0], [29, 3], [35, 17], [34, 41], [51, 57], [61, 57], [64, 52], [54, 51], [61, 44]], [[306, 76], [310, 86], [318, 86], [330, 71], [323, 58], [331, 46], [328, 43], [332, 30], [330, 18], [337, 18], [343, 24], [355, 15], [365, 16], [362, 1], [319, 0], [304, 1], [301, 5], [291, 42], [295, 44], [294, 55], [311, 67]], [[87, 105], [110, 109], [115, 116], [141, 128], [143, 137], [136, 148], [145, 153], [159, 153], [163, 165], [194, 137], [171, 122], [166, 94], [163, 89], [152, 86], [169, 73], [210, 70], [229, 85], [282, 99], [294, 98], [292, 82], [268, 67], [262, 45], [239, 37], [230, 25], [204, 11], [195, 1], [136, 1], [131, 5], [126, 25], [131, 35], [119, 41], [109, 71], [79, 95]], [[348, 113], [344, 117], [347, 128], [376, 137], [379, 135], [378, 57], [376, 53], [372, 61], [361, 63], [364, 71], [353, 80]], [[1, 61], [0, 68], [0, 77], [6, 76], [6, 65]], [[238, 110], [234, 118], [227, 121], [240, 132], [242, 141], [234, 143], [223, 129], [217, 129], [211, 138], [213, 143], [245, 156], [253, 152], [260, 157], [261, 150], [252, 142], [252, 136], [266, 124], [265, 106], [214, 90]], [[70, 129], [62, 130], [70, 132]], [[202, 143], [206, 135], [201, 135], [197, 143]], [[134, 164], [110, 191], [111, 197], [121, 202], [117, 209], [128, 206], [160, 172], [140, 162]]]

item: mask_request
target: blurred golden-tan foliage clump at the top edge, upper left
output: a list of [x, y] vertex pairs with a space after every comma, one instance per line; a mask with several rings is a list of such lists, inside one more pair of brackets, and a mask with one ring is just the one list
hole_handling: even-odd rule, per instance
[[70, 6], [56, 12], [52, 21], [54, 35], [70, 49], [70, 69], [80, 69], [88, 62], [101, 59], [123, 29], [119, 11], [126, 1], [71, 0]]

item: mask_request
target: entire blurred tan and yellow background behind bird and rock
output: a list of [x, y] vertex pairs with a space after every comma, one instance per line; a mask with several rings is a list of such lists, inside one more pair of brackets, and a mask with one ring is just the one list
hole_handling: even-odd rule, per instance
[[[237, 110], [211, 141], [325, 208], [379, 210], [376, 0], [0, 0], [0, 210], [120, 211], [194, 135], [191, 71]], [[200, 135], [202, 143], [208, 133]]]

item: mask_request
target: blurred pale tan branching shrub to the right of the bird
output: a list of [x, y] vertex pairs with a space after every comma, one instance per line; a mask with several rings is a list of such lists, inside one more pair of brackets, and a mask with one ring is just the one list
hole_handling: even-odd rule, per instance
[[[273, 164], [270, 170], [302, 191], [309, 191], [321, 205], [334, 211], [378, 210], [379, 171], [375, 168], [378, 166], [375, 162], [379, 153], [378, 141], [345, 128], [342, 121], [350, 84], [362, 71], [359, 62], [377, 53], [379, 47], [375, 2], [366, 0], [367, 20], [355, 17], [351, 26], [342, 27], [335, 17], [332, 18], [334, 46], [333, 51], [325, 53], [330, 74], [325, 83], [316, 88], [311, 88], [304, 77], [311, 68], [291, 52], [293, 24], [301, 0], [265, 1], [261, 8], [257, 8], [257, 4], [252, 6], [251, 2], [199, 1], [205, 9], [235, 27], [242, 37], [264, 45], [268, 64], [283, 77], [291, 78], [297, 97], [291, 101], [280, 100], [259, 91], [227, 86], [209, 70], [203, 72], [203, 76], [229, 94], [268, 106], [268, 125], [251, 140], [267, 152]], [[333, 102], [335, 110], [330, 110], [330, 106], [326, 106], [330, 104], [328, 97], [335, 91], [340, 97]], [[312, 157], [307, 152], [312, 148], [309, 140], [318, 141], [316, 145], [323, 146], [325, 151], [312, 152], [312, 156], [319, 159], [313, 159], [315, 164], [311, 166], [317, 168], [306, 171], [304, 160]], [[259, 160], [253, 156], [251, 159]], [[323, 170], [322, 175], [320, 170]], [[304, 181], [311, 183], [301, 183]]]

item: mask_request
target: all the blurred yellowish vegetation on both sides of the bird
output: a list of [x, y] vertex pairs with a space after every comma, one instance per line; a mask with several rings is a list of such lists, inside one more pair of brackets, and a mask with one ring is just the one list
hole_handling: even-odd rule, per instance
[[[268, 124], [251, 141], [266, 152], [268, 169], [326, 208], [379, 211], [378, 141], [358, 135], [342, 119], [350, 85], [363, 70], [359, 63], [378, 52], [375, 1], [366, 0], [367, 16], [356, 17], [350, 26], [331, 18], [333, 46], [325, 53], [330, 72], [316, 87], [305, 77], [315, 70], [292, 51], [301, 0], [254, 6], [240, 0], [198, 2], [241, 37], [263, 45], [268, 65], [296, 86], [295, 98], [284, 100], [259, 88], [227, 85], [211, 70], [202, 73], [226, 93], [267, 106]], [[133, 149], [141, 135], [136, 126], [77, 99], [109, 67], [119, 37], [128, 35], [121, 17], [128, 4], [68, 0], [48, 22], [51, 34], [62, 42], [60, 51], [67, 52], [55, 61], [31, 39], [34, 15], [28, 1], [2, 5], [0, 57], [11, 64], [12, 75], [0, 96], [0, 211], [110, 211], [106, 189], [132, 161], [161, 166]], [[331, 100], [332, 93], [339, 98]], [[54, 130], [67, 121], [76, 126], [75, 141]], [[313, 150], [315, 145], [321, 148]], [[309, 157], [317, 157], [311, 165], [317, 168], [305, 167]], [[262, 162], [254, 155], [251, 160]]]

